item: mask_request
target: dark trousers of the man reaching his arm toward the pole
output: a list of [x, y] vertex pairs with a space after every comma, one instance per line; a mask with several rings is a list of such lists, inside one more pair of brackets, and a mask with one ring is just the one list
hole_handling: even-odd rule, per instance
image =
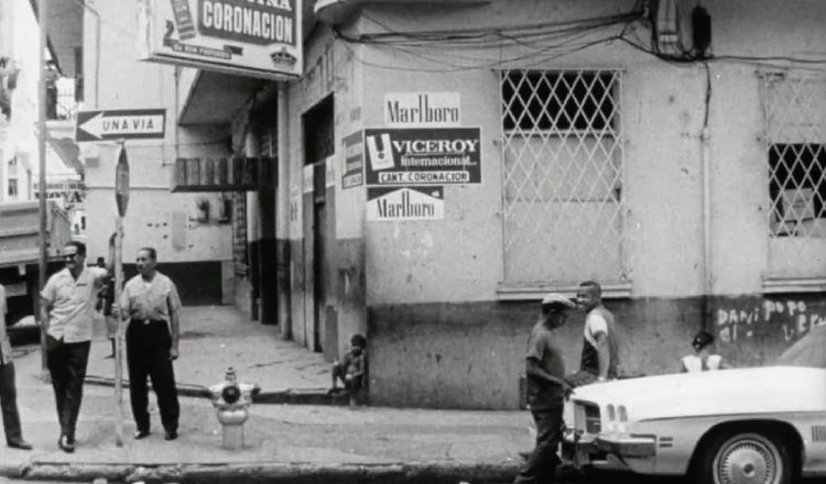
[[75, 440], [75, 425], [84, 398], [84, 378], [91, 342], [66, 343], [48, 337], [46, 366], [52, 377], [61, 433]]

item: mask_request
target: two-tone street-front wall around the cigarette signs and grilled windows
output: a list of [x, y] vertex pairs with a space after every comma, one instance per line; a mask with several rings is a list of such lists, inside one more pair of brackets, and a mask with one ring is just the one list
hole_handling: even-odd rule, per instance
[[[611, 2], [610, 7], [607, 2], [585, 3], [524, 2], [524, 9], [510, 10], [503, 2], [494, 2], [459, 12], [377, 7], [367, 12], [388, 29], [404, 31], [405, 26], [410, 29], [411, 18], [427, 29], [519, 23], [526, 21], [520, 18], [522, 13], [534, 19], [551, 18], [553, 12], [561, 19], [583, 18], [595, 12], [627, 11], [632, 2]], [[822, 30], [800, 33], [804, 32], [800, 22], [826, 13], [824, 6], [815, 2], [804, 2], [794, 10], [768, 0], [706, 7], [714, 23], [717, 54], [784, 55], [811, 53], [815, 45], [826, 45]], [[751, 25], [765, 23], [769, 11], [776, 14], [778, 22], [754, 30]], [[783, 25], [795, 25], [797, 34], [765, 35], [767, 31], [785, 32]], [[444, 56], [427, 50], [415, 53], [405, 55], [401, 50], [381, 46], [363, 50], [365, 77], [371, 79], [370, 92], [374, 94], [374, 101], [368, 100], [362, 108], [365, 118], [381, 125], [380, 101], [388, 91], [459, 92], [463, 125], [482, 128], [483, 183], [446, 186], [444, 221], [367, 223], [367, 297], [374, 362], [371, 394], [374, 402], [387, 405], [514, 408], [519, 377], [524, 372], [524, 339], [535, 320], [536, 302], [497, 302], [503, 258], [499, 218], [502, 167], [497, 146], [501, 112], [496, 73], [449, 72], [445, 64], [458, 62], [458, 56], [449, 55], [455, 52]], [[507, 48], [474, 52], [477, 61], [487, 55], [491, 62], [511, 54], [513, 50]], [[413, 72], [376, 67], [400, 64]], [[820, 323], [822, 294], [791, 295], [790, 299], [759, 295], [762, 278], [770, 272], [769, 197], [754, 66], [725, 62], [709, 65], [709, 287], [711, 294], [732, 295], [709, 300], [703, 297], [699, 138], [706, 116], [705, 67], [666, 64], [622, 43], [561, 58], [532, 59], [525, 67], [623, 69], [621, 117], [627, 142], [622, 197], [628, 237], [623, 253], [631, 297], [607, 304], [615, 310], [626, 341], [628, 373], [676, 371], [678, 358], [692, 351], [689, 341], [702, 328], [718, 334], [718, 351], [733, 364], [770, 364], [803, 332]], [[826, 274], [824, 260], [812, 262], [813, 267], [801, 271]], [[587, 278], [589, 275], [583, 274], [582, 279]], [[732, 317], [748, 319], [749, 308], [756, 307], [757, 312], [765, 314], [767, 307], [775, 310], [754, 316], [757, 319], [745, 326], [731, 322]], [[785, 312], [780, 312], [780, 307]], [[790, 312], [790, 308], [796, 312]], [[572, 371], [578, 367], [580, 331], [582, 321], [574, 319], [562, 336]]]

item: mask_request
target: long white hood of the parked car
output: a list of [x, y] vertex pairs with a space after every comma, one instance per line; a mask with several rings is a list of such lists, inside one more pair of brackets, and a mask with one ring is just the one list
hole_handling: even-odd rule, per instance
[[707, 415], [826, 411], [826, 370], [764, 366], [648, 376], [576, 388], [574, 402], [624, 405], [632, 421]]

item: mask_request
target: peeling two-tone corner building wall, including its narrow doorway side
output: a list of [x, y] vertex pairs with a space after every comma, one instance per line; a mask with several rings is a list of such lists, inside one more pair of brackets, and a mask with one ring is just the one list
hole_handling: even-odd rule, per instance
[[[526, 24], [630, 11], [634, 1], [493, 1], [483, 6], [366, 4], [345, 25], [349, 33]], [[691, 9], [695, 2], [681, 2]], [[705, 6], [717, 55], [814, 55], [826, 45], [816, 20], [826, 6], [794, 8], [774, 0]], [[637, 25], [640, 42], [650, 32]], [[776, 33], [770, 35], [768, 33]], [[528, 331], [539, 294], [506, 301], [502, 220], [502, 114], [499, 74], [525, 69], [621, 69], [627, 241], [622, 248], [630, 296], [607, 300], [622, 330], [629, 374], [675, 372], [702, 328], [718, 334], [718, 351], [737, 365], [769, 364], [824, 321], [823, 294], [762, 296], [771, 275], [768, 166], [757, 69], [718, 59], [669, 64], [622, 42], [565, 56], [525, 45], [450, 50], [400, 48], [333, 41], [319, 26], [307, 42], [307, 76], [291, 87], [291, 224], [293, 336], [306, 344], [312, 323], [307, 290], [312, 267], [312, 197], [305, 195], [301, 114], [335, 94], [336, 160], [340, 140], [384, 125], [388, 92], [456, 92], [461, 125], [481, 128], [482, 183], [446, 185], [445, 218], [378, 222], [363, 218], [365, 188], [326, 189], [336, 241], [325, 274], [333, 296], [339, 354], [349, 333], [367, 331], [371, 396], [381, 405], [515, 408]], [[474, 65], [476, 67], [463, 67]], [[481, 66], [481, 67], [479, 67]], [[709, 94], [710, 101], [706, 106]], [[704, 251], [703, 144], [710, 138], [710, 253]], [[335, 165], [340, 169], [340, 165]], [[340, 182], [340, 172], [336, 179]], [[329, 222], [329, 220], [328, 220]], [[707, 260], [706, 260], [707, 257]], [[708, 263], [707, 263], [708, 261]], [[537, 260], [536, 264], [543, 261]], [[706, 268], [708, 272], [706, 273]], [[801, 274], [826, 275], [815, 257]], [[789, 275], [789, 274], [786, 274]], [[580, 280], [591, 275], [583, 273]], [[525, 282], [531, 284], [576, 282]], [[710, 297], [705, 297], [708, 294]], [[783, 308], [782, 310], [780, 308]], [[725, 315], [725, 316], [724, 316]], [[322, 324], [324, 327], [324, 324]], [[568, 369], [578, 367], [582, 320], [562, 332]]]

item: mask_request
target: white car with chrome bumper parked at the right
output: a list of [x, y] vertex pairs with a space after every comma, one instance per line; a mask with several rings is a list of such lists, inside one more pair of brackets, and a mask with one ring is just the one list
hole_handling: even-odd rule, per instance
[[564, 457], [580, 469], [688, 475], [704, 484], [826, 476], [826, 327], [778, 364], [576, 388]]

